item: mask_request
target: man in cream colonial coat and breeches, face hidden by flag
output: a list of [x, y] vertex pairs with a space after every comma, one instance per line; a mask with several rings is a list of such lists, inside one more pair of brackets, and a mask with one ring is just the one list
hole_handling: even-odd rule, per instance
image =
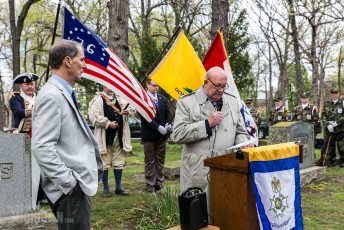
[[134, 116], [136, 110], [127, 104], [111, 89], [104, 86], [103, 92], [97, 93], [90, 102], [88, 110], [89, 119], [94, 126], [94, 136], [103, 160], [104, 197], [110, 196], [108, 175], [111, 168], [113, 168], [115, 177], [115, 194], [129, 195], [121, 184], [125, 155], [132, 150], [128, 117]]

